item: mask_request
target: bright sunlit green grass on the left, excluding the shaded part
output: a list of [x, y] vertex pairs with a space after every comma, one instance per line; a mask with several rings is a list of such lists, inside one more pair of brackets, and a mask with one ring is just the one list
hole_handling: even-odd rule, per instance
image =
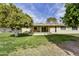
[[11, 37], [10, 35], [10, 33], [0, 34], [0, 55], [8, 55], [17, 48], [33, 48], [48, 42], [44, 36]]

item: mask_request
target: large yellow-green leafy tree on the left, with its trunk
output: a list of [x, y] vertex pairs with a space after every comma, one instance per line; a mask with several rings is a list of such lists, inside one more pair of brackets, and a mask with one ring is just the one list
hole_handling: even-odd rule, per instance
[[18, 29], [32, 25], [32, 18], [14, 4], [0, 4], [0, 27]]

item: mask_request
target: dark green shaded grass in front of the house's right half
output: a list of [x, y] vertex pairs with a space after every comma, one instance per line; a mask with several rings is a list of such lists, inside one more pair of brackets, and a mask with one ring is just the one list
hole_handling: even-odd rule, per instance
[[64, 34], [54, 34], [54, 35], [46, 35], [48, 41], [59, 44], [64, 43], [65, 41], [76, 41], [79, 37], [74, 35], [64, 35]]

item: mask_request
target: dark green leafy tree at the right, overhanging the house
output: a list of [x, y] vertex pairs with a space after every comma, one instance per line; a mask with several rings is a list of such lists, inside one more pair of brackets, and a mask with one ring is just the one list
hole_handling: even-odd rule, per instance
[[66, 13], [63, 22], [67, 26], [79, 26], [79, 3], [66, 4]]

